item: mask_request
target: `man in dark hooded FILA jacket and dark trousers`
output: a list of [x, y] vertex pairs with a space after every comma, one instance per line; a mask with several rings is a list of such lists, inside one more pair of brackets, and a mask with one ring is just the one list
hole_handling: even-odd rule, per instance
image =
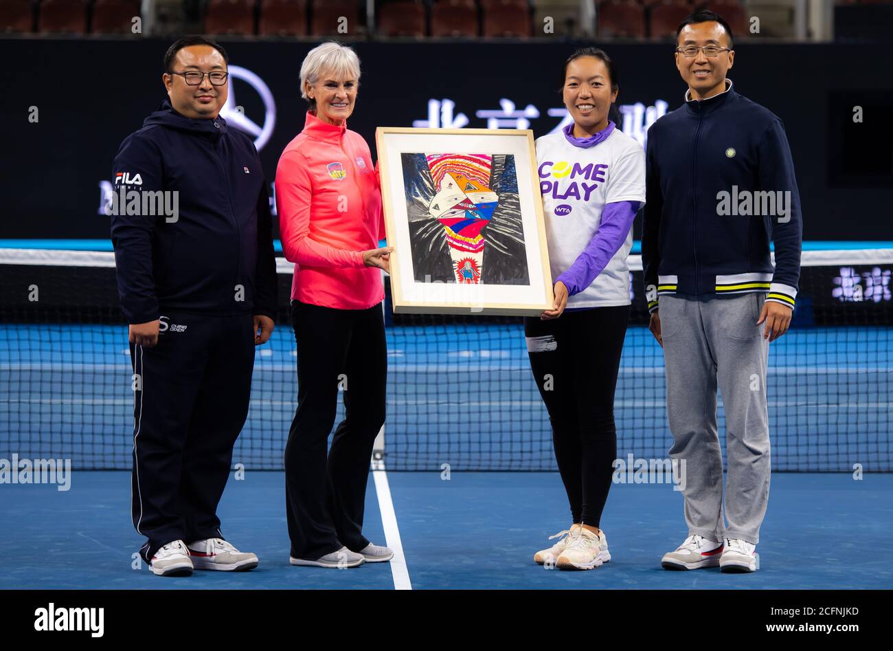
[[132, 517], [158, 575], [250, 570], [217, 504], [245, 424], [255, 345], [276, 313], [260, 159], [219, 117], [228, 58], [205, 38], [164, 57], [169, 100], [121, 143], [112, 241], [133, 365]]

